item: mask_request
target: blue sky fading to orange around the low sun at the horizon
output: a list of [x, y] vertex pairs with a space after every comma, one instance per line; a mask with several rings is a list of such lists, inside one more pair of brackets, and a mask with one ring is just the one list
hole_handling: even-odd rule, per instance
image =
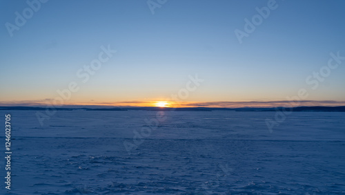
[[345, 1], [0, 1], [0, 106], [345, 105]]

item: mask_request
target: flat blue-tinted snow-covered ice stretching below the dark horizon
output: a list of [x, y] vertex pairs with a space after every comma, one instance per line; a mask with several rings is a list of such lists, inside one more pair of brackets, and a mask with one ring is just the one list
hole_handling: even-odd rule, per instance
[[42, 127], [36, 112], [0, 111], [12, 194], [345, 194], [345, 113], [292, 113], [271, 133], [274, 112], [168, 111], [144, 138], [155, 111], [58, 111]]

